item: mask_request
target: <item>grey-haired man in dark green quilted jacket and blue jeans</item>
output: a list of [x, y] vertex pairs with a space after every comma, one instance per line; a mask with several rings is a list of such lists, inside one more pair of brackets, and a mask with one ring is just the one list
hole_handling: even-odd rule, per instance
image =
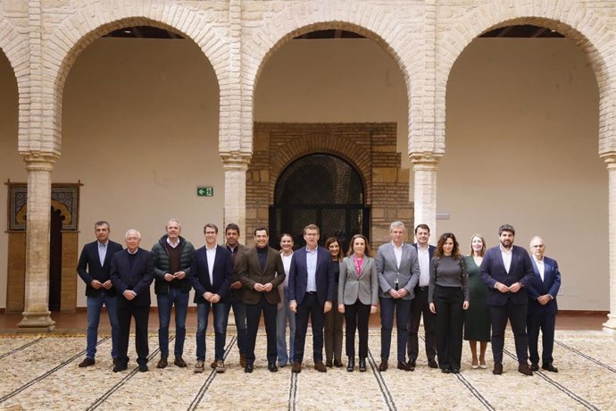
[[158, 300], [158, 344], [161, 348], [161, 359], [156, 368], [167, 366], [169, 323], [173, 305], [175, 305], [175, 348], [173, 350], [175, 360], [173, 364], [183, 368], [187, 366], [182, 354], [186, 339], [188, 292], [191, 288], [188, 275], [190, 275], [195, 247], [179, 235], [181, 225], [178, 220], [171, 219], [167, 222], [165, 230], [167, 234], [163, 235], [152, 247], [156, 279], [154, 291]]

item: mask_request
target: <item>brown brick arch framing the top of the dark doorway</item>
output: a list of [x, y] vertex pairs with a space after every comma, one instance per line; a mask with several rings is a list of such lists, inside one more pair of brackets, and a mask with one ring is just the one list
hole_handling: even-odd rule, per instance
[[370, 153], [350, 141], [334, 141], [323, 136], [308, 136], [306, 138], [289, 141], [279, 147], [278, 155], [270, 163], [270, 191], [269, 200], [274, 202], [276, 183], [280, 175], [289, 165], [305, 155], [328, 154], [336, 155], [359, 172], [363, 182], [365, 202], [370, 204], [372, 198], [372, 158]]

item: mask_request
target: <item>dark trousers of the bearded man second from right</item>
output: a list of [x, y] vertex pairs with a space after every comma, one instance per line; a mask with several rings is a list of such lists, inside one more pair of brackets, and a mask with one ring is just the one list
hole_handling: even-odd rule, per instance
[[495, 363], [503, 364], [504, 331], [507, 328], [507, 320], [509, 320], [512, 323], [518, 362], [528, 364], [529, 336], [526, 333], [528, 308], [528, 304], [513, 304], [511, 298], [507, 298], [504, 306], [489, 306], [490, 322], [492, 323], [492, 355]]

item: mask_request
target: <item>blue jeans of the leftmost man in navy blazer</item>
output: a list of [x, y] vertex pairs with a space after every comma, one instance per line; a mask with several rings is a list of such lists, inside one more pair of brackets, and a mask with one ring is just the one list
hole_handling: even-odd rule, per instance
[[98, 340], [98, 323], [101, 319], [101, 310], [107, 307], [109, 323], [112, 325], [112, 358], [118, 357], [118, 341], [120, 338], [120, 325], [118, 324], [118, 299], [101, 291], [98, 297], [87, 297], [87, 348], [86, 356], [94, 359], [96, 356], [96, 341]]

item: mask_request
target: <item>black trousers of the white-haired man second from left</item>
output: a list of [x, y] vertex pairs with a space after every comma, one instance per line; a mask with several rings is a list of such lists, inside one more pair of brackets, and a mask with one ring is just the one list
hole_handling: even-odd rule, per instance
[[[118, 296], [118, 299], [123, 298]], [[118, 341], [118, 361], [121, 365], [129, 364], [129, 334], [130, 320], [135, 317], [135, 348], [137, 364], [146, 365], [150, 348], [147, 345], [147, 321], [150, 316], [150, 306], [136, 306], [130, 301], [119, 301], [118, 325], [120, 340]]]

